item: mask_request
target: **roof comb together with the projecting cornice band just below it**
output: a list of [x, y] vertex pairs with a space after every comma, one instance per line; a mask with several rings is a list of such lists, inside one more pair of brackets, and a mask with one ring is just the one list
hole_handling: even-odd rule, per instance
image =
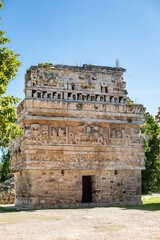
[[142, 124], [145, 108], [127, 97], [125, 71], [94, 65], [31, 66], [25, 75], [25, 99], [18, 106], [18, 116], [20, 120], [26, 114], [64, 118], [74, 111], [74, 118], [87, 114], [92, 119]]

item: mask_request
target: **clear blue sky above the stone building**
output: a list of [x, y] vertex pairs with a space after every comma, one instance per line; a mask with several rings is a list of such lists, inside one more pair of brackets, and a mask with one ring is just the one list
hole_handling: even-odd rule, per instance
[[128, 96], [160, 107], [159, 0], [4, 0], [2, 30], [22, 67], [8, 93], [24, 98], [24, 74], [41, 62], [126, 68]]

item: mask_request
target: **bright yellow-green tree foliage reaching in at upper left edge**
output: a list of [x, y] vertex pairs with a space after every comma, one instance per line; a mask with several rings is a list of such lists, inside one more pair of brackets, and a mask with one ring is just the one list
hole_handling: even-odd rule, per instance
[[[0, 0], [0, 9], [2, 7]], [[21, 66], [19, 55], [5, 46], [9, 42], [5, 32], [0, 30], [0, 147], [6, 147], [11, 139], [16, 139], [16, 136], [22, 133], [16, 124], [16, 105], [19, 98], [6, 95], [7, 85], [17, 75], [18, 67]]]

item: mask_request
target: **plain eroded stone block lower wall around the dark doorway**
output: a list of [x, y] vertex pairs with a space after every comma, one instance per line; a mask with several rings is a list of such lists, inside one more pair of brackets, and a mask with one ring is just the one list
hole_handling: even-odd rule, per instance
[[15, 174], [16, 205], [81, 206], [82, 176], [91, 176], [93, 205], [141, 203], [139, 170], [31, 170]]

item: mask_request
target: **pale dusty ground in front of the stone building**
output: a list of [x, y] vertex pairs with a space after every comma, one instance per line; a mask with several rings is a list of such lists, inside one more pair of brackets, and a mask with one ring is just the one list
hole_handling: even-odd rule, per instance
[[160, 240], [160, 211], [103, 207], [0, 212], [0, 240], [8, 239]]

